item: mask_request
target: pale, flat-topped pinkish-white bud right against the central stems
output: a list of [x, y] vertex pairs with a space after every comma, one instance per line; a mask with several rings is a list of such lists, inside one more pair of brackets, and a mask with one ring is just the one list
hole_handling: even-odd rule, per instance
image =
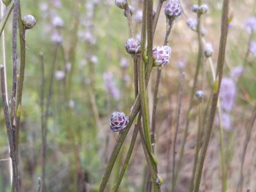
[[172, 49], [168, 46], [158, 46], [153, 48], [153, 66], [163, 67], [169, 63]]

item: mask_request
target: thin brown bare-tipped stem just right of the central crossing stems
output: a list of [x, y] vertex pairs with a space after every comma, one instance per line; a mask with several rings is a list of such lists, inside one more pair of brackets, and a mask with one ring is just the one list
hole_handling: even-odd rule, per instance
[[181, 100], [182, 100], [182, 94], [183, 94], [183, 87], [184, 87], [184, 79], [185, 79], [185, 73], [183, 72], [180, 77], [180, 89], [179, 89], [179, 98], [178, 98], [178, 111], [177, 111], [177, 117], [176, 117], [176, 129], [175, 129], [175, 135], [174, 135], [174, 143], [173, 143], [173, 158], [172, 158], [172, 192], [174, 191], [174, 168], [175, 168], [175, 156], [176, 156], [176, 140], [178, 135], [178, 128], [179, 128], [179, 122], [180, 122], [180, 108], [181, 108]]

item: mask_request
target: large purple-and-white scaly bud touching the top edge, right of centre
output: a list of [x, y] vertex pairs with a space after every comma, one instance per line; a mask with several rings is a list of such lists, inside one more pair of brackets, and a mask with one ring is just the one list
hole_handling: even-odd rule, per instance
[[182, 12], [182, 8], [178, 0], [170, 0], [164, 6], [164, 14], [166, 15], [166, 18], [170, 20], [175, 20], [180, 18], [181, 12]]

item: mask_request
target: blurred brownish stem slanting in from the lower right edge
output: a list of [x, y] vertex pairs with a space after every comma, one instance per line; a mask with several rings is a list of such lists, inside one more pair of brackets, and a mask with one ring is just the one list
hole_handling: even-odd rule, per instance
[[241, 156], [240, 177], [239, 177], [238, 184], [237, 184], [237, 187], [236, 187], [236, 192], [242, 192], [243, 180], [244, 180], [244, 176], [243, 176], [244, 159], [245, 159], [246, 149], [247, 149], [248, 143], [249, 143], [250, 138], [251, 138], [251, 132], [252, 132], [252, 128], [253, 128], [255, 119], [256, 119], [256, 105], [254, 106], [254, 109], [252, 111], [252, 116], [251, 116], [250, 122], [246, 126], [246, 137], [245, 137], [245, 140], [244, 140], [244, 145], [243, 145], [243, 149], [242, 149], [242, 156]]

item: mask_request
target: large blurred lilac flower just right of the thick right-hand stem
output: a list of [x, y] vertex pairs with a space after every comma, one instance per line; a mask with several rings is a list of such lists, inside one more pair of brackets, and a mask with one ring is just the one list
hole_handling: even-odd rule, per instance
[[232, 110], [236, 99], [236, 84], [232, 78], [222, 78], [219, 98], [222, 110]]

